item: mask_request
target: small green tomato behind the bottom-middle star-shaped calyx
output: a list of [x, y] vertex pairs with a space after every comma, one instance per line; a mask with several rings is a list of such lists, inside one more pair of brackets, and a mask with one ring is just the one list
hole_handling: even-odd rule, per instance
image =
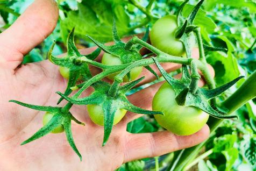
[[[104, 125], [103, 109], [101, 105], [88, 104], [87, 110], [91, 120], [97, 125]], [[118, 109], [115, 113], [113, 125], [116, 125], [125, 116], [125, 109]]]

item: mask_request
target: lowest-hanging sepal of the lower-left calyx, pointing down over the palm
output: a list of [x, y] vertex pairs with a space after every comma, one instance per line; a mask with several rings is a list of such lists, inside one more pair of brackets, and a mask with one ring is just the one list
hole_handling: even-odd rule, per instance
[[65, 118], [65, 120], [63, 121], [62, 125], [64, 127], [65, 134], [66, 134], [66, 137], [67, 137], [69, 145], [72, 147], [72, 149], [75, 151], [75, 153], [79, 156], [80, 161], [82, 161], [82, 155], [80, 154], [80, 152], [76, 148], [76, 145], [75, 145], [75, 142], [74, 142], [74, 138], [73, 138], [73, 135], [72, 135], [71, 120], [68, 119], [68, 118]]

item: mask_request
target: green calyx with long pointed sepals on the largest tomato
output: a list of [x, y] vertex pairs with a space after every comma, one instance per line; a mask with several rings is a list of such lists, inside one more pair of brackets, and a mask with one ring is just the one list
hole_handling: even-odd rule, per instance
[[[197, 83], [198, 83], [197, 81], [193, 83], [193, 80], [198, 80], [198, 77], [194, 76], [193, 78], [193, 70], [191, 70], [191, 75], [189, 74], [188, 66], [182, 65], [182, 77], [180, 80], [176, 80], [172, 76], [170, 76], [168, 73], [166, 73], [166, 71], [161, 67], [157, 58], [152, 58], [152, 59], [157, 65], [162, 76], [170, 84], [170, 86], [173, 87], [175, 91], [175, 96], [176, 96], [175, 100], [177, 104], [184, 105], [184, 106], [195, 106], [207, 112], [209, 115], [219, 119], [237, 117], [237, 116], [227, 116], [226, 109], [218, 109], [217, 106], [211, 106], [208, 100], [222, 94], [222, 92], [229, 89], [231, 86], [233, 86], [233, 84], [235, 84], [238, 80], [240, 80], [244, 76], [237, 77], [237, 79], [234, 79], [233, 81], [226, 83], [221, 87], [207, 90], [207, 89], [197, 87]], [[191, 86], [192, 84], [194, 84], [196, 88], [194, 86]]]

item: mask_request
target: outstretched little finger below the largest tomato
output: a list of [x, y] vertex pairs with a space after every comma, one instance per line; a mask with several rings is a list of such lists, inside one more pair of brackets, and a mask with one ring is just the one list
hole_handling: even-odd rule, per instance
[[151, 158], [179, 149], [195, 146], [209, 137], [209, 127], [190, 136], [177, 136], [169, 131], [129, 134], [125, 145], [124, 162]]

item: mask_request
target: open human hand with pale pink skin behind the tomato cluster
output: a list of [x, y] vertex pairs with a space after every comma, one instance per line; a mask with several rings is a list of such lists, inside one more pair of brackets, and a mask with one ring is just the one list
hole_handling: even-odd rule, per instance
[[[113, 127], [108, 143], [102, 147], [103, 127], [91, 122], [85, 106], [74, 105], [71, 110], [73, 115], [86, 123], [86, 126], [72, 124], [76, 146], [83, 156], [82, 162], [63, 133], [48, 134], [20, 146], [42, 126], [44, 112], [8, 101], [17, 99], [37, 105], [55, 105], [59, 96], [54, 92], [63, 92], [67, 84], [60, 76], [58, 67], [48, 60], [20, 66], [23, 56], [53, 31], [57, 20], [58, 8], [54, 1], [37, 0], [15, 24], [0, 34], [0, 170], [114, 170], [124, 162], [194, 146], [209, 136], [207, 125], [197, 133], [183, 137], [168, 131], [132, 134], [126, 132], [126, 125], [141, 115], [127, 112], [122, 121]], [[84, 49], [81, 53], [88, 54], [94, 49]], [[197, 56], [196, 53], [195, 50], [194, 56]], [[101, 55], [97, 60], [101, 59]], [[173, 63], [163, 66], [167, 71], [180, 67]], [[100, 72], [93, 67], [91, 70], [93, 73]], [[146, 76], [143, 83], [154, 78], [146, 70], [142, 75]], [[203, 82], [200, 84], [202, 86]], [[129, 96], [129, 101], [151, 110], [152, 98], [160, 85], [154, 84]], [[88, 89], [84, 95], [89, 95], [91, 91]]]

